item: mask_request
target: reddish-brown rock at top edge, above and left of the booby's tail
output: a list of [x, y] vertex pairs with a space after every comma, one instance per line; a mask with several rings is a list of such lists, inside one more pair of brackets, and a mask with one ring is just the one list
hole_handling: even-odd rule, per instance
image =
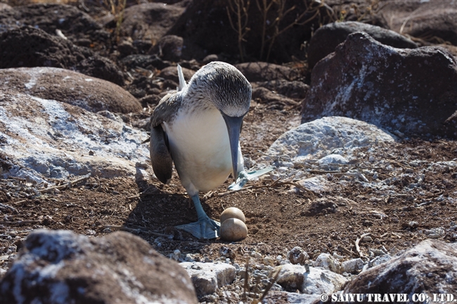
[[134, 40], [149, 40], [155, 44], [165, 36], [183, 12], [181, 6], [158, 2], [130, 6], [124, 11], [121, 28]]

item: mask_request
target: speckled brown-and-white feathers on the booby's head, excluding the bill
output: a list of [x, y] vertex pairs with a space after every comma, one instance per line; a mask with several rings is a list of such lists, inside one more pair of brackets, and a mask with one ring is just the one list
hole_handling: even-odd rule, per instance
[[212, 103], [229, 117], [242, 117], [251, 103], [252, 88], [236, 67], [213, 61], [196, 72], [188, 84], [188, 97]]

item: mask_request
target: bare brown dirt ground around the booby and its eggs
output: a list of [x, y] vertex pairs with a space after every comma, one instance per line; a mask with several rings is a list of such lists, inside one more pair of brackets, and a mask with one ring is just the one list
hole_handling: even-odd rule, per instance
[[[252, 159], [257, 159], [278, 136], [299, 123], [297, 109], [269, 110], [267, 107], [271, 105], [253, 103], [245, 119], [242, 149]], [[259, 121], [262, 122], [260, 127]], [[278, 125], [278, 122], [281, 124]], [[380, 147], [379, 155], [391, 159], [393, 166], [420, 171], [425, 165], [411, 168], [406, 164], [413, 159], [456, 159], [457, 143], [448, 140], [408, 140]], [[390, 176], [385, 169], [379, 168], [378, 172], [381, 178]], [[425, 182], [419, 188], [422, 194], [418, 190], [413, 194], [402, 195], [399, 192], [391, 196], [385, 190], [364, 188], [350, 179], [345, 187], [335, 184], [337, 186], [323, 194], [292, 192], [290, 185], [262, 187], [272, 182], [259, 180], [250, 183], [255, 186], [250, 191], [220, 196], [231, 183], [228, 180], [204, 197], [202, 204], [208, 215], [215, 219], [229, 206], [236, 206], [245, 213], [249, 235], [235, 243], [221, 239], [198, 240], [173, 228], [196, 220], [193, 206], [190, 207], [190, 201], [176, 174], [170, 185], [162, 185], [158, 180], [137, 184], [134, 178], [89, 178], [75, 187], [44, 194], [37, 199], [8, 200], [4, 193], [0, 193], [4, 204], [18, 211], [2, 211], [0, 246], [6, 251], [15, 241], [15, 236], [26, 237], [30, 230], [39, 227], [69, 229], [100, 236], [106, 233], [108, 226], [124, 225], [165, 255], [180, 249], [182, 253], [200, 253], [214, 259], [219, 257], [221, 246], [228, 246], [236, 253], [235, 261], [241, 264], [243, 253], [252, 249], [262, 255], [276, 257], [279, 254], [285, 256], [294, 246], [302, 246], [311, 258], [313, 254], [326, 251], [336, 251], [351, 258], [348, 251], [352, 251], [354, 257], [358, 256], [354, 246], [356, 237], [366, 232], [371, 232], [373, 242], [361, 243], [361, 251], [365, 254], [368, 248], [382, 246], [387, 250], [394, 247], [397, 250], [407, 249], [425, 239], [425, 234], [419, 233], [419, 230], [432, 227], [446, 229], [455, 225], [455, 204], [435, 199], [439, 195], [456, 197], [456, 177], [457, 173], [449, 168], [427, 173]], [[407, 179], [397, 181], [400, 189], [412, 182]], [[336, 212], [323, 211], [309, 216], [309, 211], [315, 211], [311, 203], [319, 197], [337, 204]], [[414, 202], [420, 204], [424, 201], [430, 204], [413, 207]], [[417, 228], [405, 227], [411, 220], [418, 222]], [[111, 229], [115, 230], [115, 227]], [[173, 234], [174, 237], [163, 239], [162, 246], [157, 247], [153, 242], [157, 238], [156, 233]], [[455, 234], [446, 234], [444, 240], [457, 241]], [[21, 246], [18, 241], [15, 245]]]

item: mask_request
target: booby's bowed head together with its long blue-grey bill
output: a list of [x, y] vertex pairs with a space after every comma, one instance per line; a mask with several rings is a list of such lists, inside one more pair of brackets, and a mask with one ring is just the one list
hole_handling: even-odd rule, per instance
[[191, 91], [219, 110], [226, 122], [233, 166], [238, 176], [238, 143], [243, 117], [249, 111], [252, 87], [241, 72], [226, 62], [213, 61], [196, 72], [188, 84]]

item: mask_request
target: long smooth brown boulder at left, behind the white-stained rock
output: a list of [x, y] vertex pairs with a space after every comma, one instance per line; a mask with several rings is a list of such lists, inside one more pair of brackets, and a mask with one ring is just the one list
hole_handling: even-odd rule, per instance
[[0, 70], [0, 88], [30, 96], [58, 100], [90, 112], [141, 111], [134, 96], [109, 81], [56, 67], [19, 67]]

